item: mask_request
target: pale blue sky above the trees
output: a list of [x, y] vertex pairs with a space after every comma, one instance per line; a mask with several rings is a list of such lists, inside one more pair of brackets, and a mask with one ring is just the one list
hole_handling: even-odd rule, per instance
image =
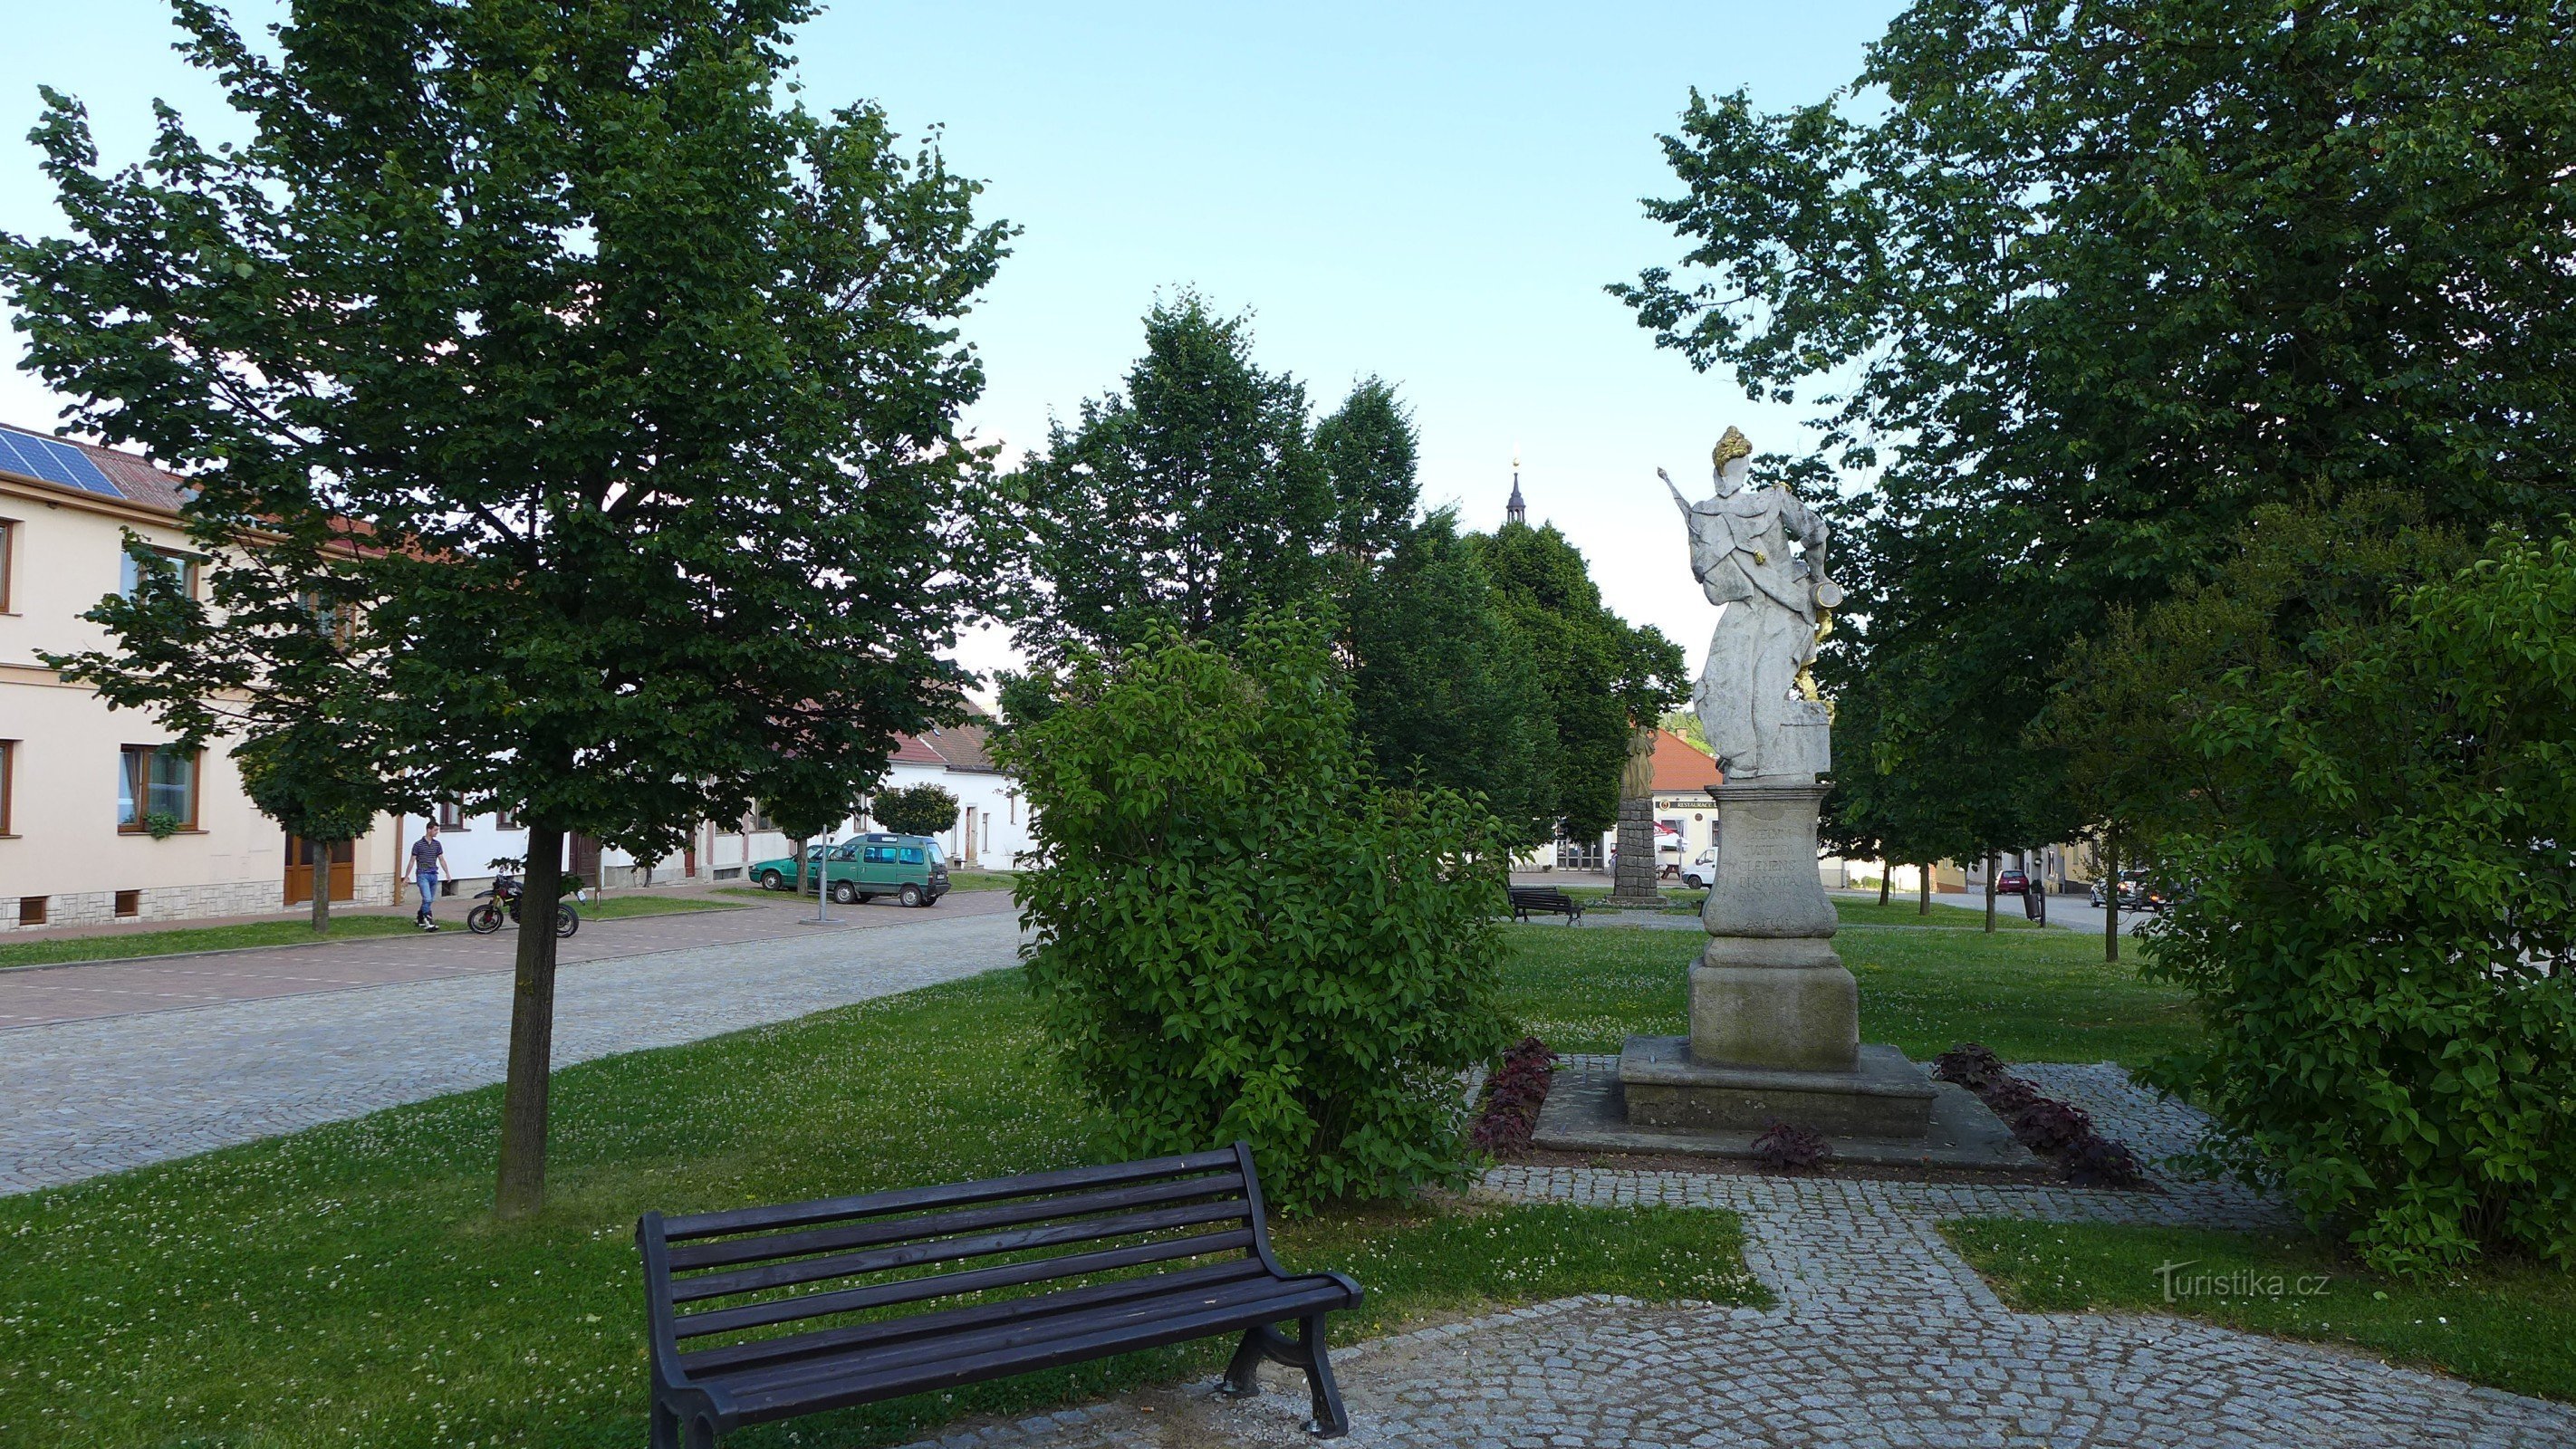
[[[26, 3], [0, 49], [0, 229], [57, 232], [23, 134], [36, 85], [90, 106], [134, 160], [152, 98], [232, 134], [170, 51], [162, 0]], [[1744, 399], [1659, 353], [1602, 283], [1680, 245], [1638, 211], [1672, 193], [1656, 134], [1687, 90], [1762, 106], [1850, 80], [1896, 5], [1020, 5], [853, 3], [806, 26], [804, 98], [876, 98], [987, 211], [1025, 226], [969, 322], [989, 391], [969, 422], [1033, 445], [1048, 412], [1108, 389], [1157, 288], [1252, 311], [1265, 365], [1332, 404], [1399, 383], [1422, 497], [1492, 525], [1512, 448], [1533, 517], [1592, 558], [1623, 615], [1698, 667], [1708, 605], [1656, 463], [1705, 486], [1726, 425], [1788, 445], [1795, 407]], [[245, 28], [276, 5], [237, 5]], [[15, 340], [0, 342], [10, 363]], [[0, 420], [52, 427], [41, 381], [0, 376]], [[971, 638], [969, 664], [1002, 659]]]

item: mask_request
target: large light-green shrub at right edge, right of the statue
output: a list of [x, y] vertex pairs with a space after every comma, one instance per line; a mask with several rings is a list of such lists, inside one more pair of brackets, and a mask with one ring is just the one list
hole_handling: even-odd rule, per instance
[[2576, 546], [2499, 543], [2187, 731], [2161, 1068], [2385, 1271], [2576, 1261]]

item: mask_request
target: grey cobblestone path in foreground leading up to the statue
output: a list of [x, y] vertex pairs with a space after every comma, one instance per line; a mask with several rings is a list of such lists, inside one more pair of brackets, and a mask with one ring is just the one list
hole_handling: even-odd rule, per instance
[[[1574, 1066], [1584, 1066], [1577, 1060]], [[2197, 1114], [2117, 1066], [2017, 1068], [2148, 1161]], [[1744, 1217], [1747, 1264], [1777, 1307], [1558, 1300], [1334, 1354], [1345, 1444], [1406, 1449], [1610, 1446], [2221, 1446], [2566, 1449], [2576, 1405], [2473, 1387], [2324, 1346], [2161, 1315], [2014, 1313], [1942, 1241], [1945, 1217], [2282, 1225], [2241, 1189], [2161, 1194], [2032, 1184], [1906, 1184], [1502, 1166], [1481, 1194], [1672, 1202]], [[1303, 1377], [1267, 1395], [1175, 1385], [1020, 1423], [963, 1426], [914, 1449], [1311, 1444]]]

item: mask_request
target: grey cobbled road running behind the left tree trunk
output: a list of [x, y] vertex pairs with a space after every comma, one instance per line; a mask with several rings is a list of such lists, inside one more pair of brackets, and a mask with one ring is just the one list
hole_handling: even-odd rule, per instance
[[[564, 968], [554, 1066], [1005, 968], [1018, 945], [987, 914]], [[0, 1035], [0, 1192], [489, 1086], [507, 1042], [507, 973], [18, 1027]]]

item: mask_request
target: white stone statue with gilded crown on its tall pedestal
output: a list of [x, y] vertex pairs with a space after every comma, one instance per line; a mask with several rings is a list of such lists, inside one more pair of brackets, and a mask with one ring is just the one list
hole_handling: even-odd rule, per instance
[[1723, 844], [1700, 916], [1708, 947], [1690, 968], [1690, 1035], [1628, 1037], [1628, 1122], [1922, 1138], [1932, 1078], [1896, 1048], [1860, 1042], [1860, 988], [1834, 955], [1834, 903], [1816, 875], [1829, 790], [1816, 775], [1834, 757], [1808, 664], [1842, 602], [1829, 535], [1788, 486], [1747, 486], [1752, 443], [1734, 427], [1710, 461], [1716, 497], [1690, 502], [1669, 474], [1664, 486], [1690, 525], [1690, 571], [1718, 605], [1692, 705], [1723, 772]]

